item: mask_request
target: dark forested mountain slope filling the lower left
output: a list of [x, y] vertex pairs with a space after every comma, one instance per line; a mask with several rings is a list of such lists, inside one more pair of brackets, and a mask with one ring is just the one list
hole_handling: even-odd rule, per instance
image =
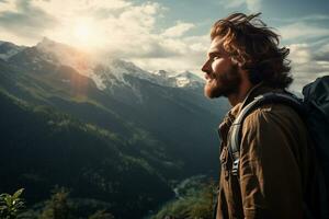
[[[139, 218], [172, 196], [166, 178], [157, 173], [158, 166], [140, 157], [139, 145], [131, 147], [111, 130], [55, 108], [22, 105], [5, 93], [0, 93], [0, 176], [11, 182], [0, 181], [0, 187], [10, 191], [23, 185], [31, 206], [45, 200], [56, 184], [72, 188], [75, 198], [110, 204], [73, 208], [72, 214], [82, 218], [98, 209], [118, 218]], [[16, 160], [20, 165], [13, 164]], [[41, 218], [56, 217], [56, 197], [48, 200]]]

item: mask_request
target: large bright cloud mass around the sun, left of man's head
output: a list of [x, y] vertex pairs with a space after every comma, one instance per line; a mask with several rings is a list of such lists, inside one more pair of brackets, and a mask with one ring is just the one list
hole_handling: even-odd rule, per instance
[[157, 22], [168, 9], [151, 1], [66, 0], [64, 5], [61, 0], [18, 0], [3, 4], [1, 18], [16, 24], [15, 28], [2, 26], [4, 41], [35, 45], [46, 36], [80, 49], [99, 51], [98, 56], [134, 61], [146, 70], [200, 71], [209, 45], [208, 36], [188, 36], [186, 33], [197, 26], [184, 21], [159, 31]]

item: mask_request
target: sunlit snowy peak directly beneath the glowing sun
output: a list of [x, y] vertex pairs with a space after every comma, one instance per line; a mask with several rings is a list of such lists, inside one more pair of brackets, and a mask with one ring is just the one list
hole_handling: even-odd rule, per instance
[[[102, 59], [97, 59], [90, 54], [65, 44], [56, 43], [46, 37], [36, 45], [36, 48], [44, 55], [50, 54], [55, 57], [58, 65], [72, 67], [79, 73], [91, 78], [100, 90], [111, 90], [111, 87], [117, 83], [129, 85], [125, 80], [125, 74], [158, 82], [154, 74], [140, 69], [133, 62], [113, 59], [109, 55]], [[56, 64], [56, 61], [53, 61], [53, 64]]]

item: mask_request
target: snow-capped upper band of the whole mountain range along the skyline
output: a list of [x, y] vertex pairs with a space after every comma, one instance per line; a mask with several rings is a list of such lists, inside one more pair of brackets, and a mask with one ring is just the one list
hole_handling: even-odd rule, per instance
[[[31, 70], [42, 72], [49, 66], [53, 68], [68, 66], [80, 74], [92, 79], [100, 90], [111, 90], [113, 85], [117, 84], [131, 87], [132, 84], [125, 76], [147, 80], [162, 87], [198, 88], [203, 84], [201, 78], [188, 71], [173, 73], [159, 70], [151, 73], [133, 62], [110, 58], [110, 55], [101, 60], [97, 59], [88, 53], [46, 37], [32, 47], [0, 42], [0, 58], [5, 61], [26, 65], [27, 69], [33, 64]], [[67, 79], [63, 79], [63, 81], [67, 82]]]

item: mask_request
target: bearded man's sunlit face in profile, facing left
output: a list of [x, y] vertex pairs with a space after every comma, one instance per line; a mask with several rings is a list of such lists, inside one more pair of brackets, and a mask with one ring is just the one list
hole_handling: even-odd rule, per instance
[[205, 72], [204, 94], [207, 97], [228, 96], [238, 92], [241, 82], [240, 67], [232, 62], [224, 50], [223, 42], [218, 36], [212, 42], [208, 58], [201, 70]]

